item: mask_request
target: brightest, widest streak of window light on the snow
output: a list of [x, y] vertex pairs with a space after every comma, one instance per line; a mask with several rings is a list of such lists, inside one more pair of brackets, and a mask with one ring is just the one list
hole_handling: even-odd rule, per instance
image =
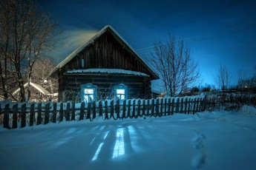
[[125, 154], [125, 141], [124, 141], [124, 135], [123, 135], [124, 129], [117, 129], [116, 132], [116, 143], [114, 146], [114, 152], [113, 157], [119, 157], [122, 156], [122, 154]]

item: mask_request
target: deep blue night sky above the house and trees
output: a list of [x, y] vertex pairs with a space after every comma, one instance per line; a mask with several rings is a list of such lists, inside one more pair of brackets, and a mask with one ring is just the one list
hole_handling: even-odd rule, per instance
[[[256, 1], [39, 1], [64, 32], [58, 62], [105, 25], [111, 25], [142, 57], [155, 38], [182, 37], [199, 61], [203, 84], [214, 84], [220, 62], [248, 77], [256, 66]], [[149, 48], [148, 48], [149, 47]], [[141, 50], [142, 49], [142, 50]]]

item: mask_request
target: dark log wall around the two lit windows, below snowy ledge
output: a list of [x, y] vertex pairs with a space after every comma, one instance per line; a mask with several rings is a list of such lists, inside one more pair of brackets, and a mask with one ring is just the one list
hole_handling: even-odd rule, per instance
[[151, 80], [148, 76], [123, 74], [64, 74], [59, 78], [59, 101], [81, 102], [81, 84], [97, 86], [96, 100], [114, 98], [114, 86], [128, 87], [128, 98], [151, 98]]

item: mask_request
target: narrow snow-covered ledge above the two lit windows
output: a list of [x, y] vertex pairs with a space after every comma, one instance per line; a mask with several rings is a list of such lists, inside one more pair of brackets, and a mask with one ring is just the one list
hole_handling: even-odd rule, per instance
[[148, 76], [143, 72], [134, 72], [125, 69], [71, 69], [68, 73], [82, 73], [82, 72], [106, 72], [106, 73], [122, 73], [125, 75], [143, 75]]

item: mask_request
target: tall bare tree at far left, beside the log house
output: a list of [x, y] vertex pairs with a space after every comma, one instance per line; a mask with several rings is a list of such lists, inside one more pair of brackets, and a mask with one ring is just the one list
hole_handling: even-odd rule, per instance
[[[57, 24], [53, 24], [50, 15], [40, 10], [34, 0], [1, 1], [0, 18], [0, 95], [3, 98], [25, 101], [24, 70], [27, 70], [27, 92], [30, 98], [33, 64], [38, 58], [44, 57], [56, 43]], [[8, 81], [8, 72], [20, 89], [19, 98], [11, 95], [13, 82]]]

